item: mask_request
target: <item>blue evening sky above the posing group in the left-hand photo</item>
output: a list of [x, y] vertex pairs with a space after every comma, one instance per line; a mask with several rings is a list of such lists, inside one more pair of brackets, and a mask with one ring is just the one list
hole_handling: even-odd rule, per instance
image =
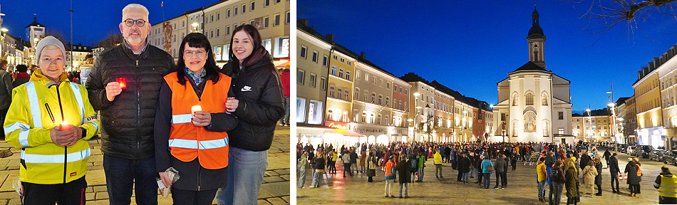
[[[150, 15], [148, 20], [151, 24], [162, 22], [162, 1], [73, 1], [73, 39], [74, 44], [82, 43], [84, 46], [103, 41], [109, 35], [120, 34], [118, 23], [122, 21], [122, 10], [127, 4], [142, 4], [148, 8]], [[165, 19], [171, 19], [190, 11], [214, 4], [217, 0], [192, 0], [164, 1]], [[38, 17], [38, 23], [46, 26], [47, 32], [61, 33], [66, 37], [66, 42], [71, 38], [71, 1], [2, 1], [0, 13], [2, 27], [9, 29], [12, 36], [21, 36], [26, 39], [24, 27], [33, 23], [33, 14]]]

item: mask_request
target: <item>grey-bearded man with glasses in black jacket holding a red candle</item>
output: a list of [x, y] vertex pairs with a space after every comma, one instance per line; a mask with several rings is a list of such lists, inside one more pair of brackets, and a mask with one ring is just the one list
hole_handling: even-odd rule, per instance
[[[153, 122], [163, 76], [175, 71], [169, 53], [150, 46], [148, 9], [129, 4], [120, 32], [125, 43], [101, 53], [86, 87], [100, 110], [103, 169], [110, 204], [157, 204]], [[135, 185], [135, 186], [134, 186]]]

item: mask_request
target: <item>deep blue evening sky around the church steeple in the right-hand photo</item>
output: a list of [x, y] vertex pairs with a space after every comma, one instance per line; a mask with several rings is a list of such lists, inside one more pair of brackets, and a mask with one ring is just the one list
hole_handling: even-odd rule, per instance
[[537, 3], [548, 70], [571, 81], [574, 112], [634, 95], [637, 71], [677, 43], [677, 19], [654, 15], [629, 29], [585, 31], [564, 1], [297, 1], [297, 18], [396, 76], [414, 72], [462, 95], [497, 103], [496, 83], [527, 63], [527, 33]]

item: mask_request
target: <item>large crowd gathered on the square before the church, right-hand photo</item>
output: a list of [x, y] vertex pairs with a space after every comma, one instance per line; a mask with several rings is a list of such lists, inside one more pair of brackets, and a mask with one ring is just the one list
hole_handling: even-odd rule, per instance
[[[588, 150], [590, 152], [588, 152]], [[305, 169], [313, 168], [313, 182], [310, 188], [321, 186], [321, 175], [324, 169], [334, 170], [329, 174], [335, 174], [336, 169], [332, 168], [331, 163], [336, 162], [337, 152], [333, 144], [318, 144], [313, 147], [311, 144], [297, 144], [297, 157], [301, 168], [301, 178], [299, 178], [299, 188], [304, 188]], [[310, 153], [310, 154], [309, 154]], [[315, 153], [315, 154], [312, 154]], [[547, 142], [515, 142], [515, 143], [497, 143], [497, 142], [465, 142], [465, 143], [434, 143], [434, 142], [391, 142], [390, 144], [355, 144], [353, 147], [341, 146], [338, 149], [341, 153], [341, 160], [344, 164], [343, 175], [352, 175], [348, 160], [356, 161], [359, 157], [359, 164], [367, 164], [368, 182], [373, 182], [377, 167], [382, 167], [384, 179], [386, 181], [385, 196], [393, 197], [391, 186], [393, 179], [399, 177], [400, 198], [408, 198], [408, 183], [423, 182], [425, 162], [433, 158], [435, 165], [435, 178], [443, 178], [444, 173], [441, 164], [448, 163], [452, 169], [457, 172], [456, 181], [462, 184], [475, 183], [482, 189], [491, 188], [491, 175], [495, 173], [494, 189], [505, 189], [510, 179], [507, 179], [507, 172], [510, 167], [515, 171], [517, 161], [534, 162], [536, 164], [536, 182], [537, 199], [544, 204], [559, 204], [563, 192], [567, 196], [567, 204], [577, 204], [581, 201], [580, 196], [593, 197], [601, 196], [602, 188], [602, 159], [606, 162], [611, 174], [611, 189], [614, 194], [621, 194], [619, 189], [619, 177], [625, 179], [629, 184], [629, 196], [640, 194], [639, 182], [641, 182], [641, 163], [637, 158], [630, 158], [625, 169], [620, 169], [618, 155], [611, 154], [607, 149], [604, 154], [598, 154], [594, 147], [588, 147], [586, 144], [554, 144]], [[358, 154], [359, 153], [359, 154]], [[316, 156], [313, 158], [312, 156]], [[354, 157], [351, 157], [354, 156]], [[327, 168], [325, 167], [327, 166]], [[394, 174], [397, 173], [397, 174]], [[626, 176], [624, 178], [623, 176]], [[662, 178], [661, 178], [662, 177]], [[469, 178], [475, 178], [474, 182], [469, 182]], [[668, 185], [660, 185], [674, 183]], [[677, 177], [672, 176], [667, 167], [663, 167], [663, 173], [656, 179], [656, 189], [666, 189], [664, 191], [672, 195], [661, 195], [663, 198], [677, 199]], [[405, 189], [403, 196], [402, 189]], [[546, 189], [549, 190], [546, 193]], [[595, 191], [596, 189], [596, 191]], [[659, 189], [660, 190], [660, 189]], [[673, 193], [675, 192], [675, 193]]]

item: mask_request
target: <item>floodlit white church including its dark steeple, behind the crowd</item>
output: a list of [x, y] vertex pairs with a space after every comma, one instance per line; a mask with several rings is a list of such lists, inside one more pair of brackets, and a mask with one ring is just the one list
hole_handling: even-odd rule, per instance
[[545, 36], [534, 8], [527, 36], [529, 62], [497, 83], [493, 142], [574, 142], [571, 82], [547, 70]]

